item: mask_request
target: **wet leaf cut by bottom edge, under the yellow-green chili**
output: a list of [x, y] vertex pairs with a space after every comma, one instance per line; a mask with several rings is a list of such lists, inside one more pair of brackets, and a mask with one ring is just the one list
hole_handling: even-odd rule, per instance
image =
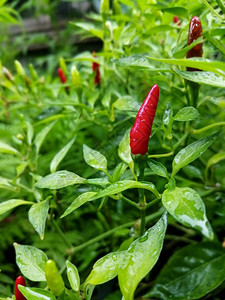
[[29, 288], [19, 285], [20, 292], [26, 297], [27, 300], [55, 300], [55, 296], [43, 289]]

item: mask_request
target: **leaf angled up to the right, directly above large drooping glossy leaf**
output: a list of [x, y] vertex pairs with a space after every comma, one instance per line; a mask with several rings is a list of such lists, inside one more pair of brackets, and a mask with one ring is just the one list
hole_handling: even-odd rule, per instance
[[173, 159], [172, 176], [174, 176], [181, 168], [202, 155], [206, 149], [212, 145], [215, 139], [216, 135], [210, 135], [181, 149]]

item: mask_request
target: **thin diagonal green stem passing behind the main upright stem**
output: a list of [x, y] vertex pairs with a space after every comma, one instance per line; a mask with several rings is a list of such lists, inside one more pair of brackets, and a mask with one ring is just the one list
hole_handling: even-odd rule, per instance
[[[158, 218], [159, 216], [161, 216], [163, 213], [164, 213], [165, 209], [164, 208], [161, 208], [159, 209], [157, 212], [155, 212], [154, 214], [151, 214], [149, 216], [146, 217], [146, 223], [150, 222], [150, 221], [153, 221], [154, 219]], [[115, 232], [117, 232], [118, 230], [122, 229], [122, 228], [126, 228], [126, 227], [131, 227], [133, 226], [135, 223], [135, 221], [131, 221], [131, 222], [128, 222], [128, 223], [125, 223], [123, 225], [120, 225], [118, 227], [115, 227], [111, 230], [108, 230], [102, 234], [100, 234], [99, 236], [79, 245], [79, 246], [76, 246], [76, 247], [72, 247], [71, 250], [70, 250], [70, 254], [73, 255], [75, 254], [76, 252], [79, 252], [83, 249], [85, 249], [86, 247], [94, 244], [94, 243], [97, 243], [105, 238], [107, 238], [108, 236], [114, 234]]]

